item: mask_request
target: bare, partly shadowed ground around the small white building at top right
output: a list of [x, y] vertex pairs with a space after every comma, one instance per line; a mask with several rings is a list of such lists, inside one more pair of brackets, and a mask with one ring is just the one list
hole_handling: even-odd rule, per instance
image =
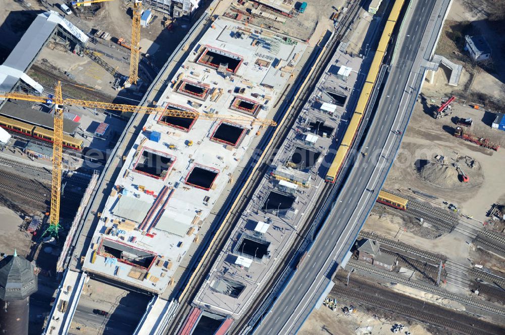
[[[435, 51], [453, 62], [463, 65], [458, 87], [447, 85], [447, 76], [439, 69], [433, 84], [426, 82], [423, 93], [444, 96], [449, 93], [458, 99], [499, 110], [505, 101], [505, 21], [499, 15], [503, 0], [455, 0], [445, 21]], [[465, 35], [482, 35], [491, 48], [491, 60], [475, 63], [463, 50]]]

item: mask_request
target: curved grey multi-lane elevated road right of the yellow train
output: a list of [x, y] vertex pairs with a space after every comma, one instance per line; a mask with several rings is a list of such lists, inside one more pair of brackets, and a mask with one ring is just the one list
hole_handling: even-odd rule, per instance
[[[398, 39], [397, 54], [384, 88], [363, 151], [351, 168], [332, 214], [319, 233], [304, 263], [281, 293], [256, 334], [294, 334], [316, 305], [337, 263], [356, 239], [385, 180], [424, 78], [423, 57], [429, 57], [436, 40], [436, 21], [444, 0], [413, 2]], [[445, 4], [446, 5], [446, 4]], [[412, 17], [410, 17], [412, 16]], [[426, 33], [425, 33], [426, 31]], [[427, 51], [429, 50], [429, 51]], [[370, 190], [373, 190], [370, 191]]]

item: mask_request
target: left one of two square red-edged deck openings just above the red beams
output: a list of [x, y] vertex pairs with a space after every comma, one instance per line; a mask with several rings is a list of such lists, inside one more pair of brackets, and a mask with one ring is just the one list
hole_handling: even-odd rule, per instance
[[169, 154], [144, 148], [138, 155], [133, 171], [165, 180], [174, 162], [175, 157]]

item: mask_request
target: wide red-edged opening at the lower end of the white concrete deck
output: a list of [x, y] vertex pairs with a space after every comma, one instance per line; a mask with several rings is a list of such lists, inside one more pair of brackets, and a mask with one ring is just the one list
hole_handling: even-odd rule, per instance
[[155, 261], [157, 254], [132, 247], [126, 243], [121, 243], [109, 239], [102, 239], [97, 248], [97, 253], [100, 256], [108, 257], [110, 259], [117, 258], [118, 261], [149, 269]]

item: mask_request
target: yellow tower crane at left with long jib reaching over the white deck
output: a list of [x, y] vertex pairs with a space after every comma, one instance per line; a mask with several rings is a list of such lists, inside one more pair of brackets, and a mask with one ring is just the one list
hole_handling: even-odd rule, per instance
[[143, 113], [162, 114], [166, 116], [203, 118], [203, 119], [226, 119], [235, 122], [260, 123], [262, 126], [276, 126], [277, 122], [270, 119], [248, 118], [234, 115], [218, 115], [214, 113], [198, 113], [179, 109], [166, 109], [161, 107], [145, 107], [125, 104], [114, 104], [98, 101], [85, 101], [78, 99], [63, 98], [61, 82], [55, 86], [54, 96], [41, 97], [24, 93], [4, 93], [0, 98], [33, 101], [55, 105], [54, 136], [53, 136], [53, 175], [51, 183], [51, 212], [49, 212], [49, 227], [44, 235], [58, 237], [60, 229], [60, 200], [61, 200], [61, 179], [62, 179], [62, 156], [63, 156], [63, 105], [74, 105], [87, 108], [103, 108], [117, 110], [123, 113]]

